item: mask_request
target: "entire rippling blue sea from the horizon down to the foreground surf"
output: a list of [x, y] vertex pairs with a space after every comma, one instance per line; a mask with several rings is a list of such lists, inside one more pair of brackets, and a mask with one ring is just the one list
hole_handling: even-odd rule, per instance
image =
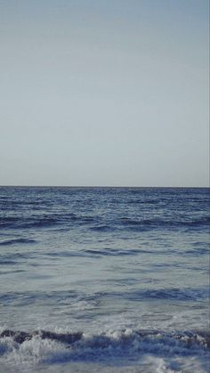
[[207, 189], [1, 187], [0, 207], [1, 372], [209, 371]]

